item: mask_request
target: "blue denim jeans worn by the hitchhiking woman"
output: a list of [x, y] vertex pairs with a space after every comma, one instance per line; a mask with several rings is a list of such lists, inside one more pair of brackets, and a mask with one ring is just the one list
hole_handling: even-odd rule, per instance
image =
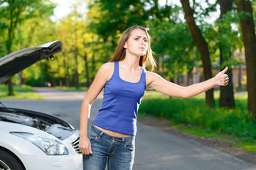
[[84, 170], [132, 170], [135, 136], [114, 137], [92, 125], [88, 137], [92, 154], [82, 155]]

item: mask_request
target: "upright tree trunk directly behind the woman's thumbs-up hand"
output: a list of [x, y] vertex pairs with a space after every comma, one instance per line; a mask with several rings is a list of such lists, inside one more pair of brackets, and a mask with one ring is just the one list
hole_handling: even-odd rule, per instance
[[[220, 36], [224, 37], [224, 34], [231, 31], [231, 26], [227, 24], [225, 20], [225, 14], [228, 11], [231, 11], [233, 6], [233, 0], [218, 0], [220, 4], [220, 27], [219, 33]], [[225, 23], [224, 23], [225, 22]], [[223, 25], [227, 24], [228, 27]], [[219, 41], [219, 49], [220, 49], [220, 70], [223, 70], [227, 64], [226, 61], [230, 60], [231, 58], [231, 51], [230, 51], [230, 44], [227, 42], [227, 39], [230, 38], [225, 37]], [[234, 91], [233, 91], [233, 74], [232, 74], [232, 67], [229, 64], [228, 71], [225, 73], [228, 74], [229, 82], [228, 86], [220, 86], [220, 107], [228, 107], [228, 108], [235, 108], [235, 99], [234, 99]]]

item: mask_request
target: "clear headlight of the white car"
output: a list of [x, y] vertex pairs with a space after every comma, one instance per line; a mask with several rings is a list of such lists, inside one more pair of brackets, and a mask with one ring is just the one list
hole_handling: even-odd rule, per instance
[[40, 135], [36, 135], [29, 132], [10, 132], [10, 133], [18, 137], [22, 137], [25, 140], [28, 140], [29, 142], [39, 147], [43, 152], [45, 152], [48, 155], [68, 154], [68, 149], [57, 140], [41, 137]]

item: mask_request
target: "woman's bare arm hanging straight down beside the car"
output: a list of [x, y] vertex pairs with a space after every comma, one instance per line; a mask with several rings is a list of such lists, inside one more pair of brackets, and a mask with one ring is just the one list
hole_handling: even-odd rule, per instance
[[87, 126], [88, 120], [90, 118], [90, 107], [92, 106], [95, 98], [100, 94], [106, 82], [110, 79], [111, 73], [113, 72], [113, 64], [106, 63], [98, 70], [95, 79], [85, 95], [82, 101], [82, 106], [80, 109], [80, 141], [79, 149], [82, 154], [92, 154], [92, 149], [90, 145], [90, 140], [87, 137]]

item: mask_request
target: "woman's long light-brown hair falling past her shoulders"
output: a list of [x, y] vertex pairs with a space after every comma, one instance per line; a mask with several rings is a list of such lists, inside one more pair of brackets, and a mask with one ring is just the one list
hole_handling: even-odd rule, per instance
[[126, 50], [124, 48], [124, 44], [125, 44], [125, 42], [127, 42], [129, 37], [131, 36], [132, 30], [134, 30], [134, 29], [144, 30], [146, 33], [148, 44], [149, 44], [149, 47], [146, 50], [146, 54], [139, 58], [139, 65], [146, 68], [149, 64], [151, 64], [151, 71], [152, 71], [156, 67], [156, 62], [152, 55], [153, 52], [152, 52], [151, 46], [150, 46], [149, 33], [146, 31], [146, 28], [144, 28], [142, 26], [132, 26], [130, 28], [127, 28], [127, 30], [124, 31], [124, 33], [122, 34], [122, 38], [119, 42], [119, 45], [117, 46], [117, 50], [114, 52], [114, 56], [112, 57], [112, 60], [110, 60], [110, 62], [117, 62], [117, 61], [124, 60], [125, 55], [126, 55]]

